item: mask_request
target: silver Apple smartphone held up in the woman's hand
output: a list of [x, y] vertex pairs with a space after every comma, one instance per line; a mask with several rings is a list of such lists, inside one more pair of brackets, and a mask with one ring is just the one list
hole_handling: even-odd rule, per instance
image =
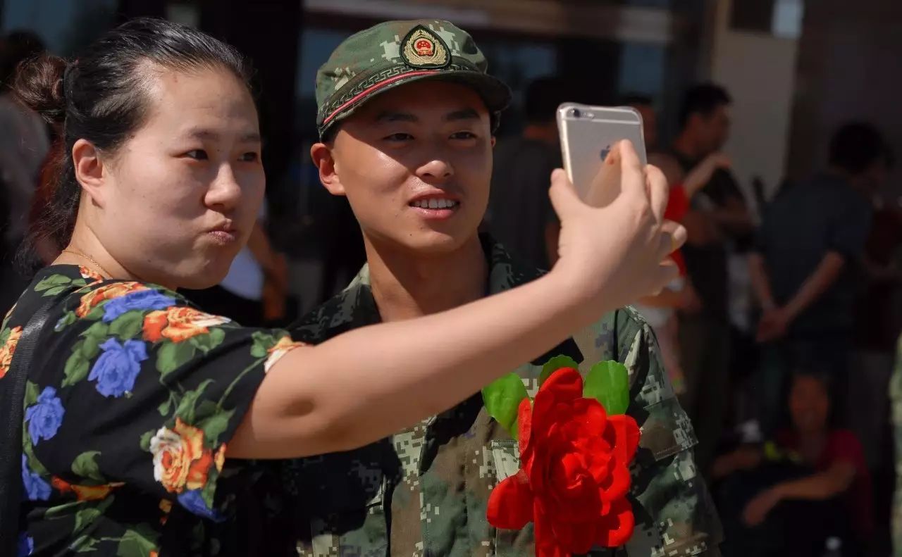
[[557, 108], [557, 131], [567, 178], [583, 199], [614, 143], [630, 140], [642, 164], [647, 162], [642, 116], [630, 106], [565, 103]]

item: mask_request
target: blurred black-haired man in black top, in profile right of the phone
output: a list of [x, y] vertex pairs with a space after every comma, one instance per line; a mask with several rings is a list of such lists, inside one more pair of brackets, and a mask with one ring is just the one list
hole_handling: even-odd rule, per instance
[[[667, 153], [654, 159], [656, 164], [666, 174], [668, 167], [676, 167], [688, 176], [719, 153], [730, 132], [730, 104], [723, 87], [690, 88], [680, 108], [680, 132]], [[696, 454], [704, 472], [713, 462], [729, 399], [724, 396], [732, 353], [728, 256], [752, 230], [745, 198], [727, 161], [715, 158], [709, 164], [715, 168], [691, 197], [682, 221], [688, 233], [682, 250], [686, 273], [698, 303], [687, 305], [679, 314], [680, 358], [686, 375], [682, 401], [698, 434]]]

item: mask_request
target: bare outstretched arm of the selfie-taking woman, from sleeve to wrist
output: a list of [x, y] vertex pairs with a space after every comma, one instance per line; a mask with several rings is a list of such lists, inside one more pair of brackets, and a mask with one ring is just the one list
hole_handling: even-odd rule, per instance
[[567, 282], [552, 272], [440, 314], [289, 352], [263, 380], [229, 456], [348, 450], [454, 406], [599, 316]]

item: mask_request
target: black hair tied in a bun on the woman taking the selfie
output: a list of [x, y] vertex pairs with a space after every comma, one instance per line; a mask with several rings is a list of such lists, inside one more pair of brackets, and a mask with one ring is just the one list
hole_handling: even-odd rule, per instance
[[79, 139], [115, 152], [144, 123], [152, 65], [177, 71], [223, 68], [250, 88], [251, 69], [233, 47], [186, 25], [138, 18], [123, 23], [67, 61], [41, 55], [20, 66], [14, 93], [51, 124], [56, 138], [41, 172], [31, 242], [58, 249], [72, 235], [81, 187], [72, 146]]

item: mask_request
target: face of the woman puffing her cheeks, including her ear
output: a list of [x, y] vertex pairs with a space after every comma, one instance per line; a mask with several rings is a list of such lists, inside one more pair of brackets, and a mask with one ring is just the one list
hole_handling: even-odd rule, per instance
[[89, 226], [133, 276], [207, 288], [226, 276], [262, 203], [256, 107], [225, 69], [147, 73], [148, 114], [105, 161]]

